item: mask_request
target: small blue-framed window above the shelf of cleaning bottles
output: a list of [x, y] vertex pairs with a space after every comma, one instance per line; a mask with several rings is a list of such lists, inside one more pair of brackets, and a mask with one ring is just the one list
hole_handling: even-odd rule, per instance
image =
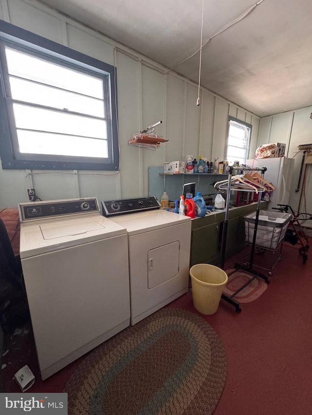
[[236, 118], [229, 117], [229, 134], [226, 160], [230, 165], [238, 161], [245, 164], [249, 154], [252, 126]]

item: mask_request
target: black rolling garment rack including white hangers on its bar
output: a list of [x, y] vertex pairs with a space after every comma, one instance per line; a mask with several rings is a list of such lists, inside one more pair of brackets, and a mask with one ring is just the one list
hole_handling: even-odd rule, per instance
[[[251, 278], [246, 284], [244, 284], [242, 287], [240, 287], [239, 289], [237, 289], [231, 296], [228, 296], [226, 294], [222, 294], [221, 298], [225, 301], [227, 301], [228, 303], [232, 304], [232, 306], [235, 307], [236, 312], [240, 313], [241, 312], [241, 308], [239, 307], [239, 303], [237, 303], [237, 301], [234, 300], [234, 296], [237, 295], [242, 289], [244, 289], [245, 287], [247, 287], [256, 277], [260, 277], [263, 278], [265, 280], [265, 282], [267, 284], [270, 283], [268, 277], [258, 271], [255, 271], [253, 269], [253, 265], [254, 265], [254, 253], [255, 253], [255, 249], [256, 249], [256, 235], [257, 235], [257, 227], [258, 227], [258, 222], [259, 222], [259, 214], [260, 214], [260, 203], [261, 203], [261, 195], [262, 195], [262, 191], [261, 190], [261, 186], [259, 185], [258, 189], [256, 189], [256, 187], [254, 187], [254, 189], [252, 187], [250, 188], [244, 188], [243, 185], [241, 188], [234, 188], [234, 186], [232, 185], [232, 178], [233, 177], [237, 177], [237, 176], [233, 176], [233, 171], [235, 170], [239, 170], [239, 171], [246, 171], [246, 172], [251, 172], [251, 171], [259, 171], [261, 172], [261, 177], [263, 178], [264, 172], [267, 170], [266, 167], [263, 168], [258, 168], [258, 167], [233, 167], [233, 166], [227, 166], [226, 171], [228, 172], [228, 180], [227, 183], [224, 182], [219, 182], [216, 183], [215, 186], [217, 185], [218, 189], [225, 189], [227, 190], [227, 199], [226, 199], [226, 207], [225, 207], [225, 219], [224, 219], [224, 224], [223, 224], [223, 230], [222, 230], [222, 240], [221, 240], [221, 269], [224, 270], [224, 261], [225, 261], [225, 248], [226, 248], [226, 237], [227, 237], [227, 228], [228, 228], [228, 222], [229, 222], [229, 208], [230, 208], [230, 195], [231, 195], [231, 191], [241, 191], [241, 192], [256, 192], [258, 193], [259, 197], [258, 197], [258, 204], [257, 204], [257, 209], [255, 212], [255, 217], [254, 217], [254, 233], [252, 236], [252, 249], [251, 249], [251, 254], [250, 254], [250, 260], [249, 260], [249, 264], [247, 266], [247, 264], [245, 265], [241, 265], [241, 264], [235, 264], [234, 268], [235, 271], [233, 271], [232, 273], [236, 272], [237, 270], [245, 270], [248, 271], [249, 273], [253, 274], [254, 277]], [[232, 274], [231, 273], [231, 274]], [[230, 274], [230, 275], [231, 275]]]

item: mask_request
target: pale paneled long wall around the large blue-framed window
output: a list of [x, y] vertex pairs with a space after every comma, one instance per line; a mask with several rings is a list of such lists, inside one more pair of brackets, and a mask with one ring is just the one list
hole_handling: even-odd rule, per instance
[[[0, 0], [0, 18], [117, 67], [120, 147], [118, 173], [32, 171], [28, 175], [23, 170], [0, 169], [0, 209], [26, 201], [30, 185], [42, 200], [148, 196], [149, 166], [185, 161], [188, 154], [209, 160], [225, 157], [228, 115], [253, 125], [253, 157], [260, 121], [256, 115], [204, 89], [197, 107], [193, 82], [174, 72], [166, 73], [166, 68], [156, 62], [36, 1]], [[156, 151], [128, 145], [134, 133], [160, 120], [163, 123], [156, 127], [156, 133], [169, 142]]]

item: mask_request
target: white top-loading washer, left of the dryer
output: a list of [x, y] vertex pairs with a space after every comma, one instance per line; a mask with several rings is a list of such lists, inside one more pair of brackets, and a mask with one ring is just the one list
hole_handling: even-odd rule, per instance
[[126, 229], [97, 198], [20, 203], [20, 258], [42, 379], [130, 325]]

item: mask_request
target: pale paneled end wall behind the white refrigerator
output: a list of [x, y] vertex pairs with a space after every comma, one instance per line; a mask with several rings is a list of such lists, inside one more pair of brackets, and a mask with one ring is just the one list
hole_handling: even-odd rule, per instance
[[[298, 185], [302, 153], [298, 153], [299, 144], [312, 143], [312, 120], [310, 114], [312, 107], [302, 108], [295, 111], [284, 112], [270, 117], [261, 118], [257, 145], [265, 143], [285, 143], [286, 155], [294, 158], [294, 172], [292, 176], [292, 190], [289, 204], [294, 210], [298, 209], [299, 198], [302, 189], [295, 192]], [[250, 153], [251, 154], [251, 153]], [[312, 213], [312, 164], [307, 165], [307, 174], [304, 190], [302, 192], [300, 212]], [[303, 174], [302, 174], [303, 176]], [[304, 197], [305, 193], [305, 197]], [[305, 225], [312, 226], [312, 221], [305, 222]]]

